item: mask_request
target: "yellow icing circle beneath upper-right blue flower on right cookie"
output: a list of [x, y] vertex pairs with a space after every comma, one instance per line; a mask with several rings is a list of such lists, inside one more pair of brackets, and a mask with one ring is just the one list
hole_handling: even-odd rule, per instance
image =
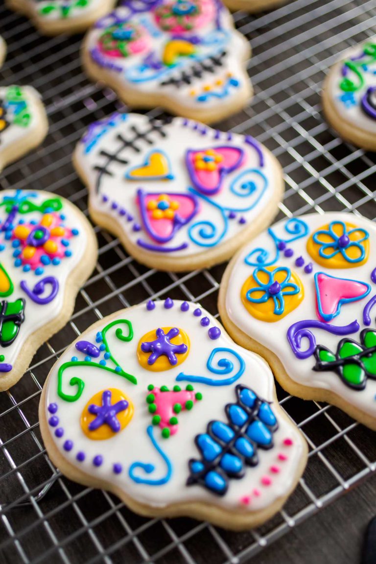
[[[340, 247], [337, 244], [337, 239], [335, 239], [335, 237], [330, 235], [329, 229], [331, 225], [331, 230], [334, 232], [334, 234], [337, 235], [337, 237], [341, 237], [343, 235], [342, 223], [346, 227], [346, 233], [348, 239], [350, 240], [350, 245], [341, 252]], [[326, 231], [328, 233], [320, 233], [320, 231]], [[317, 234], [316, 240], [318, 238], [318, 240], [320, 241], [319, 243], [316, 243], [313, 240], [315, 234]], [[356, 243], [357, 241], [361, 240], [363, 237], [364, 237], [364, 230], [362, 230], [361, 227], [354, 225], [353, 223], [347, 223], [341, 221], [331, 222], [331, 224], [326, 223], [325, 225], [314, 231], [309, 237], [307, 241], [307, 252], [315, 262], [317, 262], [321, 266], [325, 266], [326, 268], [355, 268], [357, 266], [364, 265], [368, 261], [369, 239], [365, 239], [364, 241], [361, 241], [361, 243], [359, 243], [359, 245], [361, 245], [364, 248], [364, 258], [361, 260], [359, 260], [362, 255], [361, 249], [359, 248], [359, 246], [351, 245], [351, 243]], [[330, 245], [331, 243], [333, 243], [333, 245]], [[327, 246], [325, 248], [325, 245], [327, 244], [329, 244], [330, 246]], [[322, 257], [320, 255], [320, 249], [321, 249], [321, 254], [324, 253], [330, 255], [334, 253], [333, 257], [330, 258]], [[345, 256], [343, 255], [344, 253], [346, 253]], [[351, 260], [350, 261], [347, 260], [346, 256]], [[351, 261], [357, 261], [357, 262], [351, 262]]]

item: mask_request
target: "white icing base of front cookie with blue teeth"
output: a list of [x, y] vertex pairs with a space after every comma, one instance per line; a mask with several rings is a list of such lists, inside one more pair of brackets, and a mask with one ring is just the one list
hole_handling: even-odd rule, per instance
[[[134, 338], [130, 342], [121, 342], [114, 336], [116, 326], [109, 329], [108, 343], [110, 351], [117, 359], [117, 362], [127, 372], [134, 374], [138, 380], [138, 384], [131, 384], [125, 378], [116, 376], [112, 373], [101, 371], [100, 369], [92, 369], [90, 367], [79, 367], [67, 369], [63, 376], [63, 392], [74, 394], [77, 391], [76, 386], [69, 386], [70, 377], [73, 375], [82, 378], [85, 387], [81, 397], [76, 402], [64, 401], [57, 395], [57, 371], [59, 367], [72, 356], [77, 356], [79, 360], [83, 360], [83, 354], [80, 354], [73, 345], [60, 357], [55, 367], [52, 369], [45, 390], [45, 416], [46, 419], [51, 417], [47, 411], [50, 403], [56, 403], [58, 406], [57, 417], [59, 417], [59, 427], [64, 428], [64, 437], [56, 438], [54, 428], [48, 427], [51, 440], [55, 446], [65, 457], [65, 459], [77, 470], [82, 470], [89, 474], [95, 480], [110, 482], [117, 488], [120, 488], [132, 499], [139, 503], [147, 504], [153, 507], [165, 507], [169, 504], [184, 503], [185, 501], [200, 501], [201, 503], [210, 503], [221, 506], [223, 508], [257, 511], [273, 504], [279, 497], [285, 496], [289, 488], [295, 481], [295, 475], [299, 462], [303, 456], [304, 447], [303, 439], [299, 431], [286, 418], [278, 417], [276, 411], [277, 406], [272, 404], [275, 412], [279, 429], [274, 434], [274, 444], [269, 451], [258, 450], [259, 464], [254, 468], [246, 467], [245, 476], [241, 479], [229, 479], [229, 487], [227, 493], [223, 497], [214, 495], [205, 490], [204, 487], [193, 485], [185, 486], [188, 478], [188, 460], [191, 457], [200, 459], [200, 453], [194, 444], [194, 437], [200, 433], [206, 433], [206, 425], [209, 421], [218, 419], [227, 422], [224, 407], [227, 403], [236, 402], [235, 386], [244, 384], [249, 386], [261, 398], [270, 402], [274, 402], [273, 394], [273, 376], [268, 365], [263, 362], [257, 355], [242, 349], [235, 345], [232, 340], [222, 335], [215, 341], [210, 340], [207, 330], [208, 327], [218, 326], [216, 321], [205, 310], [202, 310], [200, 317], [194, 316], [193, 311], [198, 307], [196, 304], [189, 304], [189, 311], [182, 312], [180, 305], [182, 302], [174, 301], [171, 309], [165, 309], [163, 302], [156, 302], [156, 307], [152, 311], [148, 311], [145, 305], [135, 306], [129, 310], [118, 312], [110, 319], [127, 319], [130, 320], [134, 330]], [[207, 316], [210, 319], [210, 325], [202, 327], [200, 319]], [[108, 319], [105, 319], [100, 328], [88, 329], [81, 338], [95, 343], [96, 332], [103, 329]], [[184, 362], [165, 372], [151, 372], [144, 369], [138, 363], [136, 349], [140, 338], [157, 327], [171, 326], [183, 329], [191, 341], [188, 357]], [[119, 325], [118, 327], [123, 327]], [[127, 334], [127, 329], [124, 331]], [[99, 345], [98, 345], [99, 346]], [[152, 474], [144, 474], [142, 470], [138, 470], [137, 474], [146, 478], [160, 478], [166, 474], [166, 465], [162, 461], [161, 456], [154, 450], [147, 435], [147, 428], [151, 425], [152, 415], [148, 412], [148, 405], [145, 398], [149, 391], [149, 384], [154, 386], [166, 385], [170, 389], [175, 384], [179, 384], [182, 389], [188, 382], [176, 382], [175, 378], [180, 372], [185, 374], [196, 374], [201, 376], [212, 377], [214, 379], [223, 378], [221, 375], [213, 374], [206, 368], [206, 362], [213, 349], [216, 347], [228, 347], [236, 351], [245, 362], [244, 374], [232, 385], [228, 386], [208, 386], [205, 384], [194, 384], [194, 391], [202, 392], [202, 400], [196, 402], [192, 411], [182, 411], [178, 415], [179, 429], [175, 435], [171, 435], [168, 439], [161, 437], [161, 429], [156, 426], [153, 428], [154, 437], [172, 463], [172, 476], [169, 482], [162, 486], [150, 486], [141, 483], [135, 483], [129, 476], [129, 467], [135, 461], [153, 464], [156, 470]], [[231, 355], [226, 353], [217, 353], [214, 359], [214, 366], [218, 366], [218, 360], [227, 356], [233, 360], [235, 371], [238, 368], [238, 361]], [[103, 356], [101, 356], [103, 358]], [[98, 362], [99, 359], [93, 359], [92, 362]], [[113, 366], [108, 361], [108, 366]], [[235, 372], [234, 371], [234, 372]], [[120, 431], [113, 438], [107, 440], [90, 440], [83, 433], [79, 419], [82, 409], [88, 400], [98, 391], [114, 387], [122, 390], [127, 394], [134, 403], [134, 416], [126, 428]], [[284, 446], [285, 438], [293, 440], [293, 446]], [[73, 440], [74, 446], [72, 451], [66, 452], [63, 449], [64, 440]], [[86, 454], [83, 462], [76, 460], [78, 451]], [[288, 459], [281, 462], [278, 461], [278, 453], [285, 453]], [[96, 455], [103, 455], [103, 464], [96, 468], [92, 464], [92, 460]], [[123, 470], [121, 474], [114, 474], [112, 466], [114, 463], [121, 463]], [[272, 474], [270, 468], [277, 465], [280, 472]], [[261, 479], [264, 475], [269, 475], [272, 484], [263, 486]], [[259, 490], [260, 495], [254, 496], [254, 488]], [[251, 496], [250, 505], [242, 505], [240, 499], [242, 496]]]

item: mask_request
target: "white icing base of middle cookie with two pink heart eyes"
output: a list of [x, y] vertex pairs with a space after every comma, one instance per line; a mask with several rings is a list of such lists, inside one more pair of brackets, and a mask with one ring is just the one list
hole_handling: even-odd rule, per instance
[[[249, 227], [254, 219], [258, 218], [260, 212], [264, 211], [266, 207], [275, 201], [276, 193], [278, 192], [278, 186], [280, 186], [280, 170], [276, 166], [276, 161], [272, 157], [271, 153], [266, 151], [264, 147], [259, 145], [260, 150], [264, 157], [264, 166], [259, 166], [259, 156], [255, 149], [250, 145], [245, 143], [245, 137], [238, 134], [231, 134], [231, 140], [228, 140], [227, 133], [221, 133], [215, 131], [210, 127], [204, 126], [202, 124], [197, 124], [194, 121], [184, 120], [183, 118], [174, 118], [172, 122], [168, 125], [163, 126], [163, 131], [165, 131], [166, 136], [162, 137], [156, 131], [149, 133], [147, 138], [152, 140], [153, 143], [149, 144], [145, 142], [144, 139], [138, 139], [135, 145], [138, 147], [139, 152], [133, 151], [129, 147], [122, 148], [122, 142], [118, 139], [118, 135], [121, 134], [123, 139], [133, 139], [135, 136], [132, 127], [136, 127], [138, 131], [144, 132], [150, 129], [149, 120], [146, 116], [141, 114], [128, 114], [125, 121], [122, 120], [121, 116], [114, 118], [115, 126], [107, 127], [103, 122], [98, 122], [96, 126], [95, 134], [93, 134], [89, 140], [86, 136], [77, 145], [76, 153], [74, 155], [74, 160], [78, 165], [79, 171], [85, 177], [85, 182], [89, 185], [90, 193], [90, 210], [108, 215], [111, 221], [116, 222], [118, 229], [121, 229], [127, 239], [131, 241], [132, 244], [137, 245], [139, 239], [143, 240], [147, 244], [152, 244], [158, 246], [158, 243], [149, 237], [148, 233], [143, 228], [143, 223], [141, 221], [139, 206], [136, 201], [137, 190], [143, 188], [145, 192], [150, 193], [185, 193], [189, 195], [191, 192], [188, 188], [192, 186], [191, 178], [189, 177], [187, 168], [185, 166], [185, 153], [188, 149], [206, 149], [215, 148], [221, 146], [229, 147], [240, 147], [245, 152], [244, 164], [240, 168], [226, 174], [223, 181], [222, 190], [209, 199], [213, 201], [213, 204], [218, 204], [222, 208], [241, 210], [250, 205], [253, 205], [253, 209], [250, 211], [237, 211], [236, 218], [229, 219], [229, 211], [225, 212], [228, 223], [228, 231], [225, 233], [222, 239], [219, 239], [221, 230], [224, 227], [224, 219], [218, 208], [215, 208], [213, 204], [205, 201], [204, 198], [198, 197], [200, 204], [200, 211], [191, 219], [191, 221], [179, 231], [175, 233], [174, 238], [166, 244], [161, 245], [161, 252], [151, 252], [149, 250], [144, 250], [140, 246], [136, 246], [140, 253], [152, 257], [158, 255], [159, 257], [188, 257], [197, 255], [203, 252], [209, 252], [214, 246], [219, 246], [222, 243], [226, 243], [232, 237], [236, 237], [245, 228]], [[202, 131], [205, 134], [202, 134]], [[91, 145], [90, 140], [96, 138], [95, 144]], [[256, 142], [255, 142], [256, 143]], [[89, 152], [88, 149], [90, 149]], [[169, 157], [171, 172], [174, 175], [172, 180], [128, 180], [125, 175], [134, 166], [141, 166], [145, 162], [145, 158], [151, 151], [163, 151], [165, 155]], [[95, 170], [95, 166], [105, 166], [108, 163], [108, 156], [103, 155], [103, 151], [106, 153], [116, 153], [121, 159], [125, 159], [127, 164], [113, 160], [107, 166], [107, 169], [111, 175], [103, 174], [100, 175], [98, 170]], [[236, 196], [230, 190], [230, 186], [235, 178], [241, 175], [244, 171], [248, 169], [255, 169], [260, 171], [266, 177], [266, 189], [263, 190], [263, 181], [260, 177], [255, 177], [253, 173], [250, 174], [250, 180], [256, 181], [256, 191], [253, 195], [249, 197]], [[99, 193], [96, 191], [99, 184]], [[247, 180], [247, 177], [242, 177], [242, 182]], [[238, 185], [241, 182], [238, 183]], [[108, 197], [108, 201], [103, 201], [103, 196]], [[117, 208], [112, 209], [112, 203], [116, 202]], [[274, 204], [273, 204], [274, 205]], [[127, 214], [131, 214], [134, 221], [127, 221], [127, 215], [121, 216], [119, 210], [125, 209]], [[244, 218], [245, 223], [240, 223], [240, 219]], [[213, 222], [216, 226], [218, 235], [214, 237], [214, 240], [218, 240], [218, 244], [214, 244], [213, 237], [210, 239], [202, 239], [202, 241], [207, 246], [202, 246], [194, 243], [189, 238], [189, 229], [191, 226], [197, 222]], [[134, 224], [137, 223], [141, 226], [140, 231], [134, 231]], [[205, 226], [204, 226], [205, 228]], [[206, 231], [208, 228], [205, 228]], [[198, 232], [198, 228], [196, 229]], [[163, 252], [163, 248], [176, 248], [182, 244], [188, 243], [187, 248], [182, 250], [175, 250], [169, 253]]]

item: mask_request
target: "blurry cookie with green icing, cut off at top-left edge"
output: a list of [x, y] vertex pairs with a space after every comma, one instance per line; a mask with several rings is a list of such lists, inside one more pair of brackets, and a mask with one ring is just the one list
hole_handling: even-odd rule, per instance
[[30, 17], [45, 35], [85, 31], [107, 14], [116, 0], [6, 0], [8, 7]]

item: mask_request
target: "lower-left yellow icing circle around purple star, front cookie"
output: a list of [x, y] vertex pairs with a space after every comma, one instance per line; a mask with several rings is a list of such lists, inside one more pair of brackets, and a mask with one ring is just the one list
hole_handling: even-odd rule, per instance
[[[112, 405], [120, 402], [121, 400], [126, 400], [128, 402], [128, 407], [123, 411], [120, 411], [116, 414], [116, 418], [120, 423], [120, 429], [118, 431], [113, 431], [107, 423], [101, 425], [98, 429], [91, 431], [89, 429], [89, 425], [91, 421], [94, 421], [96, 418], [95, 413], [90, 413], [89, 406], [91, 404], [95, 404], [96, 406], [102, 405], [102, 397], [104, 391], [111, 392], [111, 399], [110, 402]], [[123, 393], [121, 390], [117, 388], [105, 388], [104, 390], [99, 391], [98, 393], [94, 394], [87, 402], [86, 406], [83, 408], [81, 413], [81, 429], [85, 433], [86, 437], [92, 440], [105, 440], [110, 439], [120, 433], [130, 422], [131, 418], [133, 417], [134, 407], [133, 403], [131, 402], [130, 398]]]

